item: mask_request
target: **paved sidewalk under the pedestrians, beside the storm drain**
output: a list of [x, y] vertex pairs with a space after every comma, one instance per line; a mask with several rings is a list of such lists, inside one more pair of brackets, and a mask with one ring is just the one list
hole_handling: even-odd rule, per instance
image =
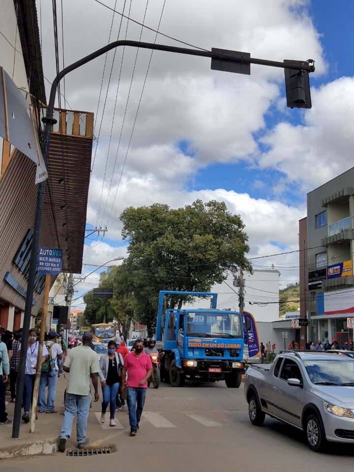
[[[38, 419], [35, 422], [34, 433], [29, 433], [29, 424], [25, 424], [23, 421], [21, 421], [19, 438], [12, 439], [12, 424], [0, 425], [0, 459], [19, 457], [23, 455], [53, 454], [57, 451], [59, 432], [63, 420], [63, 400], [66, 383], [67, 380], [64, 378], [64, 376], [61, 376], [58, 379], [57, 397], [55, 403], [55, 408], [58, 413], [38, 413]], [[102, 392], [100, 387], [98, 391], [100, 394], [100, 399], [98, 402], [92, 402], [92, 408], [90, 409], [88, 419], [87, 435], [92, 447], [94, 447], [95, 443], [97, 446], [98, 444], [104, 443], [106, 438], [107, 440], [112, 439], [112, 433], [115, 432], [115, 428], [106, 428], [106, 424], [108, 423], [106, 423], [103, 428], [95, 415], [96, 412], [101, 411]], [[9, 401], [10, 397], [6, 396], [6, 400]], [[13, 419], [14, 406], [14, 403], [8, 403], [6, 406], [6, 411], [10, 419]], [[128, 415], [124, 412], [117, 412], [117, 417], [118, 414], [120, 419], [123, 416], [124, 420], [128, 419]], [[108, 417], [109, 414], [107, 413], [107, 418]], [[122, 432], [122, 430], [120, 430], [120, 432]], [[76, 448], [75, 420], [73, 423], [72, 436], [67, 441], [67, 447]]]

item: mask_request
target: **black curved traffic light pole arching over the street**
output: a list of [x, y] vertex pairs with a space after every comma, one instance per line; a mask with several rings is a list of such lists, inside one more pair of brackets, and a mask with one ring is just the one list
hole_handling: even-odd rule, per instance
[[[270, 67], [280, 67], [282, 69], [295, 69], [295, 70], [303, 71], [307, 73], [315, 71], [315, 66], [310, 65], [310, 63], [313, 62], [312, 60], [308, 60], [304, 62], [287, 61], [286, 63], [284, 63], [284, 62], [278, 62], [274, 60], [251, 58], [248, 53], [242, 53], [239, 51], [225, 51], [225, 52], [222, 50], [206, 51], [206, 50], [199, 50], [199, 49], [179, 48], [175, 46], [166, 46], [163, 44], [146, 43], [146, 42], [140, 42], [140, 41], [128, 41], [128, 40], [114, 41], [113, 43], [107, 44], [103, 48], [98, 49], [97, 51], [89, 54], [88, 56], [85, 56], [84, 58], [77, 60], [73, 64], [68, 65], [62, 71], [60, 71], [57, 77], [54, 79], [52, 87], [51, 87], [51, 91], [50, 91], [47, 113], [46, 113], [46, 116], [42, 118], [43, 123], [45, 123], [44, 143], [42, 146], [42, 154], [43, 154], [44, 162], [46, 163], [46, 165], [48, 164], [48, 160], [49, 160], [49, 145], [50, 145], [50, 139], [51, 139], [51, 134], [52, 134], [52, 126], [53, 124], [57, 122], [57, 120], [54, 118], [54, 105], [55, 105], [55, 99], [57, 95], [57, 88], [58, 88], [59, 82], [69, 72], [72, 72], [73, 70], [78, 69], [82, 65], [87, 64], [91, 60], [96, 59], [99, 56], [106, 54], [108, 51], [118, 48], [119, 46], [131, 46], [131, 47], [136, 47], [136, 48], [141, 48], [141, 49], [152, 49], [155, 51], [166, 51], [170, 53], [186, 54], [189, 56], [199, 56], [199, 57], [204, 57], [204, 58], [210, 58], [212, 59], [212, 61], [213, 60], [217, 61], [217, 64], [215, 64], [214, 62], [214, 66], [212, 62], [212, 68], [224, 70], [226, 72], [250, 74], [250, 72], [248, 71], [248, 67], [244, 67], [245, 65], [248, 66], [250, 64], [266, 65]], [[222, 67], [220, 67], [220, 64], [222, 64]], [[244, 69], [246, 69], [246, 71]], [[40, 233], [41, 216], [42, 216], [42, 211], [43, 211], [44, 191], [45, 191], [45, 181], [39, 183], [37, 186], [37, 203], [36, 203], [36, 211], [35, 211], [35, 219], [34, 219], [34, 227], [33, 227], [31, 255], [30, 255], [30, 262], [29, 262], [29, 278], [28, 278], [28, 283], [27, 283], [25, 317], [24, 317], [24, 326], [23, 326], [24, 332], [23, 332], [20, 365], [19, 365], [19, 384], [18, 384], [16, 404], [15, 404], [12, 438], [18, 438], [19, 432], [20, 432], [21, 403], [22, 403], [22, 395], [23, 395], [24, 380], [25, 380], [25, 363], [26, 363], [26, 355], [27, 355], [28, 331], [29, 331], [31, 310], [32, 310], [34, 279], [35, 279], [36, 266], [37, 266], [38, 240], [39, 240], [39, 233]]]

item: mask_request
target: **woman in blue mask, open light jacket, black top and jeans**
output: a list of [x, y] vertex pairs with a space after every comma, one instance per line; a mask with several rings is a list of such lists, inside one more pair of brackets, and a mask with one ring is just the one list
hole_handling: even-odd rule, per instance
[[101, 423], [106, 421], [106, 411], [110, 404], [110, 426], [117, 426], [115, 422], [116, 398], [119, 389], [120, 372], [123, 367], [121, 354], [116, 353], [116, 343], [108, 343], [108, 353], [102, 355], [99, 361], [100, 371], [98, 373], [102, 386], [102, 413]]

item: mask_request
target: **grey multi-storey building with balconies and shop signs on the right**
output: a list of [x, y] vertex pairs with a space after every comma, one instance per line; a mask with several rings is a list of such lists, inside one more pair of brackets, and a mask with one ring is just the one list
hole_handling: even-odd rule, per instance
[[353, 339], [354, 168], [307, 194], [299, 222], [300, 311], [313, 341]]

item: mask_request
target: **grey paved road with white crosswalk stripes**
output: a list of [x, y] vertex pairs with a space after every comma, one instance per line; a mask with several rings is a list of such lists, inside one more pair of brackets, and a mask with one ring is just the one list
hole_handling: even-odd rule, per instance
[[[95, 413], [90, 413], [94, 415]], [[117, 451], [104, 456], [55, 456], [3, 460], [6, 472], [80, 470], [144, 472], [217, 471], [353, 471], [354, 448], [332, 445], [324, 454], [312, 452], [301, 432], [273, 419], [264, 427], [248, 420], [243, 386], [225, 383], [171, 388], [164, 383], [148, 391], [138, 435], [128, 435], [128, 415], [117, 412], [121, 428], [96, 442]], [[88, 432], [89, 435], [89, 432]], [[75, 467], [75, 469], [74, 469]], [[114, 469], [113, 469], [114, 468]]]

